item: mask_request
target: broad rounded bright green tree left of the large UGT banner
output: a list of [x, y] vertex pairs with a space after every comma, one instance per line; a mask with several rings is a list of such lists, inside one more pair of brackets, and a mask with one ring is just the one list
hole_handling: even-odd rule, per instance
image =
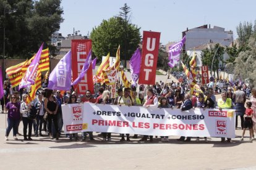
[[[111, 17], [103, 20], [99, 26], [93, 28], [90, 38], [94, 54], [101, 60], [103, 55], [110, 52], [116, 56], [117, 47], [121, 46], [121, 60], [124, 60], [125, 52], [125, 20], [121, 17]], [[130, 59], [140, 43], [140, 28], [132, 23], [127, 24], [127, 58]]]

